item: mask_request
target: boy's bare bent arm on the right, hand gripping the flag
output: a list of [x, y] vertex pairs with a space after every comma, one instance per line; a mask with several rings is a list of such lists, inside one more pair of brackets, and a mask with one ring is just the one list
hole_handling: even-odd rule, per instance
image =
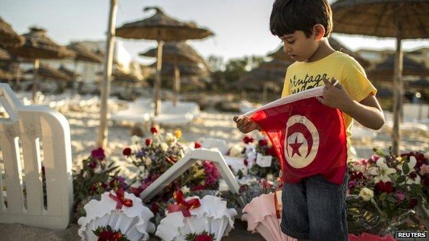
[[351, 99], [340, 84], [333, 86], [329, 80], [323, 80], [323, 82], [325, 82], [325, 89], [322, 97], [318, 97], [322, 104], [340, 109], [363, 126], [373, 130], [382, 128], [384, 115], [374, 95], [370, 94], [361, 102], [357, 102]]

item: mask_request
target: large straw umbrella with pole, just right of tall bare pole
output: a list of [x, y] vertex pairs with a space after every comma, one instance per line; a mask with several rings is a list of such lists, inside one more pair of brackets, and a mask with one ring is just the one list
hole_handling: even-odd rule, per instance
[[157, 75], [155, 78], [155, 115], [159, 114], [161, 88], [162, 46], [164, 41], [185, 41], [188, 39], [201, 39], [212, 36], [213, 33], [205, 28], [197, 27], [195, 23], [185, 23], [164, 14], [160, 8], [144, 8], [144, 11], [156, 10], [155, 15], [125, 23], [116, 30], [116, 35], [122, 38], [151, 39], [157, 41]]

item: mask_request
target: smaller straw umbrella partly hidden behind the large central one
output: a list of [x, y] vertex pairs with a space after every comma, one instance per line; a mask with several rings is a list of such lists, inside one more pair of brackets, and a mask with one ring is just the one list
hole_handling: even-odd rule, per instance
[[[177, 105], [177, 94], [180, 91], [180, 71], [179, 62], [201, 63], [208, 66], [206, 61], [199, 56], [197, 51], [190, 47], [185, 42], [169, 42], [162, 49], [162, 61], [174, 63], [175, 75], [173, 78], [173, 105]], [[157, 49], [149, 49], [146, 52], [140, 53], [140, 56], [156, 57]]]

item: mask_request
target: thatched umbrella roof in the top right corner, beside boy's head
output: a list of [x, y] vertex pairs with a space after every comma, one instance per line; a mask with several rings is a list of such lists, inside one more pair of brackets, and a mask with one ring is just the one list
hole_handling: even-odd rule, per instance
[[402, 39], [429, 37], [429, 0], [338, 0], [333, 31]]

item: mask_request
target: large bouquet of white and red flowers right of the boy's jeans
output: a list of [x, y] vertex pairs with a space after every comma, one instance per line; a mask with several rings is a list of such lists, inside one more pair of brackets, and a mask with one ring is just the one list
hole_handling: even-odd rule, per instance
[[348, 202], [351, 233], [385, 235], [419, 229], [415, 208], [429, 207], [428, 159], [418, 152], [395, 157], [391, 151], [374, 150], [370, 159], [349, 163], [348, 187], [354, 197]]

